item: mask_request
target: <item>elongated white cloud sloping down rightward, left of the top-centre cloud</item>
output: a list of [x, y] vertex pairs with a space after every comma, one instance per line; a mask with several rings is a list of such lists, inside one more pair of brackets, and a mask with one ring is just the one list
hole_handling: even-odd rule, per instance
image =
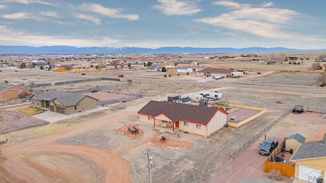
[[139, 16], [137, 14], [122, 14], [122, 9], [111, 9], [103, 7], [102, 5], [95, 3], [84, 3], [79, 8], [82, 8], [84, 11], [95, 12], [102, 15], [106, 15], [111, 18], [125, 18], [128, 20], [138, 20]]

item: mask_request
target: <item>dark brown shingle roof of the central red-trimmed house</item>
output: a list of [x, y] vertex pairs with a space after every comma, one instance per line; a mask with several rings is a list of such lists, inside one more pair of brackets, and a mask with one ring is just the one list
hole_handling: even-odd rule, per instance
[[173, 122], [179, 120], [186, 120], [194, 123], [207, 125], [211, 118], [219, 110], [228, 114], [226, 111], [221, 110], [218, 107], [204, 107], [175, 102], [168, 103], [149, 101], [141, 110], [138, 111], [138, 113], [150, 116], [164, 114], [169, 117]]

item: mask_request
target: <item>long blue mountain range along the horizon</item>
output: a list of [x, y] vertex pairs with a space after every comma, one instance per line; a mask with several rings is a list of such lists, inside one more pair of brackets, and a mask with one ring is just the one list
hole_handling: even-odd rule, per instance
[[156, 49], [138, 47], [74, 47], [74, 46], [0, 46], [0, 54], [164, 54], [164, 53], [271, 53], [296, 51], [326, 51], [326, 49], [275, 48], [193, 48], [161, 47]]

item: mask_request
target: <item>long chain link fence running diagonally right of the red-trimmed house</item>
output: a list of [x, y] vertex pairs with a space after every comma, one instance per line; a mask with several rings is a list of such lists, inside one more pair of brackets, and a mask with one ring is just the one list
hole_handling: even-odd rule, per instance
[[257, 139], [260, 137], [264, 136], [265, 133], [270, 130], [272, 127], [274, 127], [281, 119], [283, 119], [285, 116], [287, 116], [290, 112], [292, 112], [292, 109], [294, 106], [291, 108], [287, 109], [282, 115], [280, 115], [278, 118], [273, 120], [270, 124], [268, 124], [265, 128], [263, 128], [259, 133], [257, 133], [255, 136], [252, 138], [248, 139], [246, 142], [244, 142], [242, 145], [240, 145], [238, 148], [236, 148], [232, 153], [229, 155], [229, 162], [234, 160], [237, 156], [240, 155], [240, 153], [248, 148], [251, 144], [253, 144]]

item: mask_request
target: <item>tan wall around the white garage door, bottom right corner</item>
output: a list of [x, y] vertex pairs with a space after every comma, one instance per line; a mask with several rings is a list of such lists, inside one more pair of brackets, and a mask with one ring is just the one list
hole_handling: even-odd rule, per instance
[[300, 165], [320, 170], [322, 177], [325, 175], [325, 172], [326, 172], [326, 158], [295, 161], [294, 178], [299, 178], [299, 167], [300, 167]]

